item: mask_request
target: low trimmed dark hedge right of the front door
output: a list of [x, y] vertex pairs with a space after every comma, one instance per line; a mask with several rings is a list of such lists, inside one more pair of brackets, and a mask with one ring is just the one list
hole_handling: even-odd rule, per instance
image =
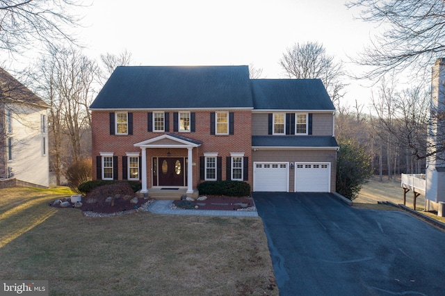
[[250, 185], [243, 181], [204, 181], [197, 186], [200, 195], [226, 195], [245, 197], [250, 195]]

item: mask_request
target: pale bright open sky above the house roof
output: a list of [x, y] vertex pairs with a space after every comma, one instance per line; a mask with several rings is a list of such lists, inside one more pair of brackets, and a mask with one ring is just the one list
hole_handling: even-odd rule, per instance
[[[254, 65], [261, 78], [286, 78], [279, 61], [297, 42], [323, 44], [327, 54], [360, 71], [350, 58], [369, 44], [374, 24], [344, 0], [94, 0], [77, 38], [84, 54], [127, 50], [133, 65]], [[366, 81], [345, 79], [345, 101], [368, 104]]]

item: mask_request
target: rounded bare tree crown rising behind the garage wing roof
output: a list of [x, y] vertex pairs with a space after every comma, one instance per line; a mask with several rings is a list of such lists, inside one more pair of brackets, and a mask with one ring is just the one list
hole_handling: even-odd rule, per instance
[[321, 79], [334, 105], [344, 96], [346, 84], [341, 82], [343, 64], [326, 54], [322, 44], [307, 42], [294, 44], [280, 59], [280, 65], [289, 78]]

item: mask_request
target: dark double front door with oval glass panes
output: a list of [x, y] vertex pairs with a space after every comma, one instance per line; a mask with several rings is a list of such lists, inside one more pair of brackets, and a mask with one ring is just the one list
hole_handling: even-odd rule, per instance
[[184, 186], [184, 158], [158, 158], [159, 186]]

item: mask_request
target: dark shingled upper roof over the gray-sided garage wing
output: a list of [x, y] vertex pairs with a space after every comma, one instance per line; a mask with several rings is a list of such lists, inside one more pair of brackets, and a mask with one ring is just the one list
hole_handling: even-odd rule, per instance
[[256, 110], [335, 110], [321, 79], [252, 79]]

